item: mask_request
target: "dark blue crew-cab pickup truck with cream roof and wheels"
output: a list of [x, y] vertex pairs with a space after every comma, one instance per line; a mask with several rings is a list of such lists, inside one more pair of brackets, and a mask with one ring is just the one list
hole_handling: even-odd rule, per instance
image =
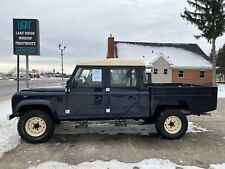
[[182, 137], [187, 115], [216, 109], [217, 88], [153, 84], [140, 60], [105, 59], [76, 66], [66, 87], [33, 88], [12, 97], [18, 132], [31, 143], [47, 141], [60, 121], [143, 119], [166, 139]]

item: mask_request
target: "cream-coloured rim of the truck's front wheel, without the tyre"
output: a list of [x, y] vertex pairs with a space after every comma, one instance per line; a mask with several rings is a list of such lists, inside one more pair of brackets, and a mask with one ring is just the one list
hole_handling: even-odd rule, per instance
[[39, 137], [46, 131], [46, 123], [40, 117], [31, 117], [25, 124], [27, 134], [32, 137]]

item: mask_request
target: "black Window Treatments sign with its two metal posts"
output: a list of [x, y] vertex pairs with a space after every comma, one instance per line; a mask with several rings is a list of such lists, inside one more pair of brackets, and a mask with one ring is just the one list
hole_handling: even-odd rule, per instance
[[[29, 88], [28, 55], [40, 55], [39, 21], [37, 19], [13, 19], [13, 54], [26, 56], [26, 84]], [[17, 91], [19, 91], [19, 73], [17, 70]]]

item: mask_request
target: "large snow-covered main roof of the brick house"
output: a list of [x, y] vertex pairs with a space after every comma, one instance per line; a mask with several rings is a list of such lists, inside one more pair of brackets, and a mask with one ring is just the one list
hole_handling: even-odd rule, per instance
[[209, 57], [197, 44], [115, 41], [115, 54], [119, 58], [142, 59], [146, 65], [164, 56], [173, 67], [212, 68]]

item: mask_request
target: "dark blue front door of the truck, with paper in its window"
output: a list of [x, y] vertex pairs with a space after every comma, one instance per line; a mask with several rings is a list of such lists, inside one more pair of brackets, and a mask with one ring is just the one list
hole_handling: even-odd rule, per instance
[[69, 116], [74, 119], [105, 118], [105, 70], [102, 67], [76, 68], [68, 93]]

